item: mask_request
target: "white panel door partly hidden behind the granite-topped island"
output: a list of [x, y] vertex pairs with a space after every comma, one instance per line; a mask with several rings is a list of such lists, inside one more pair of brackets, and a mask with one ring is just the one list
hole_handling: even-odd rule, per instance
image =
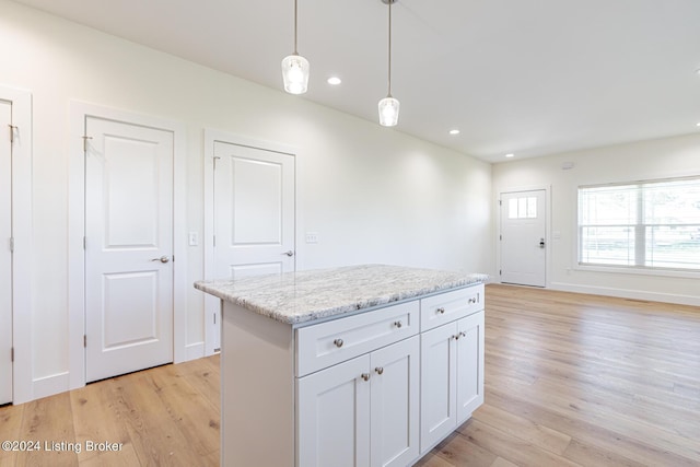
[[294, 157], [214, 143], [217, 278], [294, 270]]

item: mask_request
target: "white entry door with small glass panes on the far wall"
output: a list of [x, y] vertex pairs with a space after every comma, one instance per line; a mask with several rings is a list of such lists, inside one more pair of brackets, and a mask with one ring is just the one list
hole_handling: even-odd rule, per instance
[[546, 191], [501, 194], [501, 282], [547, 285]]

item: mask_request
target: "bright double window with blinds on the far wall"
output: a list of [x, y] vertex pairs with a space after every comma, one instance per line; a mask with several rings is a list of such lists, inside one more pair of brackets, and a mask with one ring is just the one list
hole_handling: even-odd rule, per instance
[[700, 270], [700, 177], [580, 187], [579, 264]]

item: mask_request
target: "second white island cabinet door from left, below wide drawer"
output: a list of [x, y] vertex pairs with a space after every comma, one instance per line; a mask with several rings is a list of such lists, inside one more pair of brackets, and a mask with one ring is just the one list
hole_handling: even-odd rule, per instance
[[418, 336], [371, 354], [372, 467], [404, 467], [418, 458]]

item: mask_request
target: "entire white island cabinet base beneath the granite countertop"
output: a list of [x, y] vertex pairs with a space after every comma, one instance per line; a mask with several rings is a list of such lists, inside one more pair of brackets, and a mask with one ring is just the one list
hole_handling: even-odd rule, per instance
[[483, 284], [222, 332], [223, 466], [410, 466], [483, 401]]

